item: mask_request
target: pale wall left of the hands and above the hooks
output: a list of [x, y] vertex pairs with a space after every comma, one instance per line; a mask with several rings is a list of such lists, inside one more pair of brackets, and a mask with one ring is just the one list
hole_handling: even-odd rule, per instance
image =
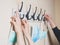
[[[26, 2], [26, 0], [24, 0]], [[54, 1], [53, 0], [27, 0], [24, 4], [25, 9], [29, 3], [32, 4], [32, 8], [38, 6], [38, 12], [40, 8], [45, 9], [49, 15], [54, 15]], [[12, 8], [17, 8], [17, 0], [0, 0], [0, 45], [8, 45], [8, 34], [10, 30], [10, 17], [12, 16]], [[33, 11], [32, 11], [33, 12]], [[53, 16], [54, 19], [54, 16]]]

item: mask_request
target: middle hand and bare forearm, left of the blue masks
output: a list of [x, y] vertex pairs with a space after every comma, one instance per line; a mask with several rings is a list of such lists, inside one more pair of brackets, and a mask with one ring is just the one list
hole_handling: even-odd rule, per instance
[[28, 42], [30, 45], [34, 45], [32, 38], [29, 34], [29, 23], [27, 20], [22, 20], [23, 23], [23, 33], [25, 34], [26, 38], [28, 39]]

